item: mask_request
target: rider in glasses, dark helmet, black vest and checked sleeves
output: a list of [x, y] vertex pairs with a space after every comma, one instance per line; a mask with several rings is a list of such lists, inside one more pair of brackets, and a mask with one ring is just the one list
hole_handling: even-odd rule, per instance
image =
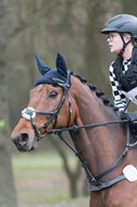
[[137, 105], [137, 17], [120, 14], [112, 17], [101, 31], [108, 35], [110, 51], [117, 54], [110, 65], [110, 82], [114, 105], [122, 119], [126, 113], [126, 98]]

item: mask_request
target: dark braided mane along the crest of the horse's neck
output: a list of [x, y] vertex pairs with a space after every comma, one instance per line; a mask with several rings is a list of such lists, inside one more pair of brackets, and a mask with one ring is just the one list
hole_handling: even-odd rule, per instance
[[89, 89], [94, 92], [97, 95], [97, 97], [102, 100], [104, 106], [111, 107], [114, 111], [117, 111], [117, 108], [113, 105], [113, 102], [109, 98], [104, 97], [104, 92], [97, 90], [96, 85], [88, 83], [87, 80], [85, 77], [82, 77], [80, 75], [73, 74], [73, 76], [78, 78], [83, 84], [86, 84], [89, 87]]

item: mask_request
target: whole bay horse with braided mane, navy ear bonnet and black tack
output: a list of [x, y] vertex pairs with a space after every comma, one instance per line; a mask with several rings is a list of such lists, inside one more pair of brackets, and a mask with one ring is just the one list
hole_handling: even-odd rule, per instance
[[63, 131], [70, 131], [74, 148], [66, 144], [86, 171], [89, 207], [137, 206], [137, 147], [128, 123], [122, 123], [94, 85], [67, 70], [60, 53], [55, 69], [36, 59], [41, 76], [30, 90], [12, 142], [20, 151], [30, 151], [46, 134], [55, 133], [64, 141]]

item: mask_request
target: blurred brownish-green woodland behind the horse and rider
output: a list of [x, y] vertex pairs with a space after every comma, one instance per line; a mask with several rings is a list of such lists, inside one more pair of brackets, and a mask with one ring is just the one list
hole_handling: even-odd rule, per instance
[[[68, 70], [85, 76], [112, 99], [108, 69], [114, 56], [100, 29], [115, 14], [137, 15], [136, 8], [136, 0], [0, 0], [1, 207], [17, 206], [11, 156], [20, 153], [12, 146], [10, 134], [39, 75], [35, 53], [54, 68], [57, 52], [61, 52]], [[58, 143], [48, 145], [55, 146], [67, 163]], [[46, 146], [43, 141], [41, 150]], [[70, 171], [64, 170], [66, 174]], [[70, 182], [75, 183], [74, 179]]]

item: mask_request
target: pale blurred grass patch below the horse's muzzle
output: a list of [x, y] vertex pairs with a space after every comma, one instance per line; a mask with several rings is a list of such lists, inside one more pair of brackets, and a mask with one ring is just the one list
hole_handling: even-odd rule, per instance
[[[72, 168], [76, 158], [68, 155]], [[15, 154], [12, 156], [18, 207], [70, 199], [68, 182], [57, 153]]]

